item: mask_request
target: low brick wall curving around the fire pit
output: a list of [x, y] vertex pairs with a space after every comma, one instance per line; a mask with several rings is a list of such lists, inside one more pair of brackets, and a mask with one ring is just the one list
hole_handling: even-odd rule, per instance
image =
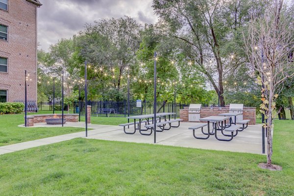
[[[32, 127], [34, 123], [45, 123], [46, 118], [52, 118], [57, 116], [57, 118], [61, 118], [62, 114], [35, 114], [35, 115], [27, 115], [26, 116], [26, 126]], [[66, 122], [78, 122], [78, 114], [64, 114], [64, 118]]]

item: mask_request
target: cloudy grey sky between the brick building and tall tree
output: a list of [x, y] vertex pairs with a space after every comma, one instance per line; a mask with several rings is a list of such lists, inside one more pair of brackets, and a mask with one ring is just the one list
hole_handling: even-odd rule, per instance
[[85, 23], [102, 18], [130, 16], [137, 22], [154, 23], [152, 0], [40, 0], [38, 8], [39, 48], [48, 50], [61, 38], [71, 38]]

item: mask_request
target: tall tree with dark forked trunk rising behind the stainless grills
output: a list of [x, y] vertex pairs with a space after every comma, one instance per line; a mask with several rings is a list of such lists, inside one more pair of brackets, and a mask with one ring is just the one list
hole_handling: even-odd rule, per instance
[[254, 1], [153, 0], [152, 6], [161, 19], [161, 34], [183, 42], [182, 52], [220, 93], [224, 106], [223, 78], [245, 63], [240, 27]]

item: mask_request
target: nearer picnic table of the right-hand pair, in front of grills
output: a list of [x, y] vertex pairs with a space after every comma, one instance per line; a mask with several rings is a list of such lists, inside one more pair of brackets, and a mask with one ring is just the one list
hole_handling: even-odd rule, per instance
[[[224, 125], [226, 125], [226, 121], [229, 120], [230, 118], [231, 118], [231, 116], [208, 116], [208, 117], [205, 117], [205, 118], [200, 118], [200, 121], [206, 121], [207, 122], [207, 130], [208, 130], [208, 132], [204, 133], [202, 131], [202, 133], [207, 135], [207, 137], [206, 138], [199, 138], [199, 139], [208, 139], [210, 135], [215, 135], [217, 140], [231, 141], [233, 139], [233, 137], [237, 135], [237, 134], [234, 135], [234, 131], [236, 131], [235, 127], [234, 127], [234, 131], [231, 131], [232, 129], [229, 129], [229, 128], [226, 130], [226, 131], [230, 131], [231, 135], [223, 133], [224, 129], [226, 128], [225, 126], [223, 126], [223, 123], [224, 123]], [[210, 122], [212, 122], [212, 126], [213, 126], [213, 129], [212, 129], [211, 132], [210, 132]], [[220, 124], [221, 129], [218, 129], [218, 127], [217, 127], [218, 124]], [[222, 135], [230, 136], [231, 138], [229, 138], [229, 139], [219, 138], [217, 136], [217, 131], [218, 130], [221, 131]], [[238, 133], [238, 129], [237, 129], [237, 133]]]

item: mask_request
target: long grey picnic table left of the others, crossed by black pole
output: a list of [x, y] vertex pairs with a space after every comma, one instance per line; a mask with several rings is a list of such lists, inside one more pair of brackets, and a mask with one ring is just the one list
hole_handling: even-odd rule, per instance
[[[174, 112], [163, 112], [163, 113], [156, 113], [156, 117], [159, 117], [159, 122], [161, 122], [161, 118], [164, 117], [164, 121], [167, 121], [167, 116], [168, 116], [168, 119], [169, 121], [171, 120], [171, 115], [175, 114]], [[144, 119], [146, 119], [146, 123], [149, 124], [149, 121], [150, 119], [152, 124], [154, 123], [154, 114], [143, 114], [143, 115], [136, 115], [136, 116], [128, 116], [127, 117], [128, 119], [133, 119], [134, 120], [134, 123], [130, 123], [130, 124], [133, 124], [134, 125], [134, 132], [126, 132], [124, 131], [125, 133], [127, 134], [134, 134], [137, 130], [139, 130], [139, 132], [142, 134], [142, 135], [150, 135], [151, 133], [144, 133], [142, 131], [147, 131], [148, 129], [150, 128], [146, 128], [146, 129], [142, 129], [141, 128], [141, 123]], [[136, 122], [136, 120], [139, 120], [139, 123]], [[156, 120], [156, 119], [155, 119]], [[136, 125], [138, 124], [138, 128], [136, 127]], [[126, 124], [125, 124], [126, 125]], [[164, 129], [164, 128], [163, 128]]]

